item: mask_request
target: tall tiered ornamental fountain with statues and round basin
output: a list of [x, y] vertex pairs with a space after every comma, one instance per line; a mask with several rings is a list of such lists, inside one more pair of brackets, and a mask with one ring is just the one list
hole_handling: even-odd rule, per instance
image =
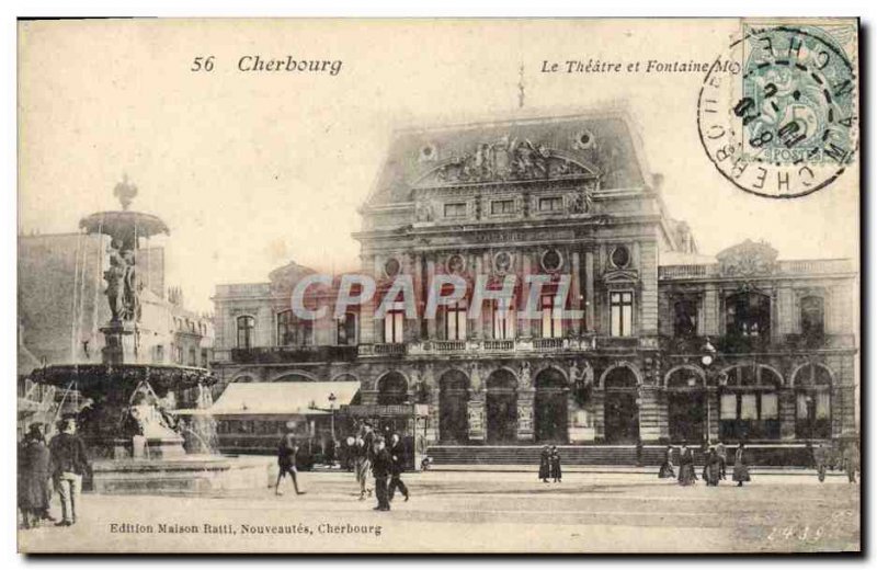
[[[129, 210], [137, 186], [125, 178], [114, 194], [122, 210], [83, 218], [87, 233], [109, 237], [103, 272], [110, 321], [101, 364], [56, 364], [35, 369], [31, 379], [76, 392], [84, 401], [73, 412], [93, 456], [92, 487], [105, 493], [209, 492], [264, 487], [269, 461], [224, 457], [210, 446], [212, 419], [206, 368], [147, 362], [140, 350], [143, 280], [140, 241], [170, 231], [150, 214]], [[201, 433], [200, 433], [201, 432]], [[183, 434], [194, 436], [196, 454], [186, 454]]]

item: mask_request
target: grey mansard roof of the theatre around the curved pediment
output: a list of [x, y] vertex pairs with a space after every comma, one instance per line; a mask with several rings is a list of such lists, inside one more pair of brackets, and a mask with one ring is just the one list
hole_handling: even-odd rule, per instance
[[602, 189], [635, 189], [650, 182], [627, 113], [613, 110], [398, 130], [367, 203], [409, 202], [412, 187], [424, 175], [472, 155], [479, 145], [497, 141], [544, 147], [599, 174]]

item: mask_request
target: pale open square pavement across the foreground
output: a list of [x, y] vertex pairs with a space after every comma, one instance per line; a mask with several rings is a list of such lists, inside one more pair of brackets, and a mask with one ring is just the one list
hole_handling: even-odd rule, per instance
[[[304, 472], [307, 491], [216, 497], [83, 495], [72, 527], [20, 531], [22, 551], [728, 552], [858, 550], [859, 486], [813, 471], [738, 488], [656, 475], [406, 474], [411, 500], [360, 501], [353, 474]], [[57, 499], [53, 514], [58, 513]]]

